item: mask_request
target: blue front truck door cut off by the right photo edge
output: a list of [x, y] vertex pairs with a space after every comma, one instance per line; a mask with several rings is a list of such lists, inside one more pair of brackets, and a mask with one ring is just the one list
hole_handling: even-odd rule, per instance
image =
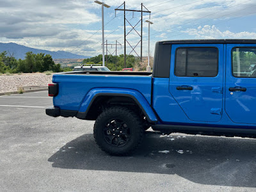
[[225, 111], [237, 124], [256, 124], [256, 44], [227, 44]]

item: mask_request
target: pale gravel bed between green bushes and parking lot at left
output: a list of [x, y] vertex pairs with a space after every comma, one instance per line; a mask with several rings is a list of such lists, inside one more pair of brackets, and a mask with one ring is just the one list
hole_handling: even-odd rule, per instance
[[52, 82], [52, 75], [40, 73], [1, 75], [0, 82], [0, 93], [15, 92], [19, 86], [47, 86]]

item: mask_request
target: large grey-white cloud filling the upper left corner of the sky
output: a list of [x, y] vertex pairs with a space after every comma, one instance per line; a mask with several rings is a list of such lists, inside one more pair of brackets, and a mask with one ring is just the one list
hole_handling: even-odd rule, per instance
[[67, 31], [68, 24], [93, 24], [100, 17], [85, 10], [82, 1], [0, 1], [0, 36], [25, 38], [55, 36]]

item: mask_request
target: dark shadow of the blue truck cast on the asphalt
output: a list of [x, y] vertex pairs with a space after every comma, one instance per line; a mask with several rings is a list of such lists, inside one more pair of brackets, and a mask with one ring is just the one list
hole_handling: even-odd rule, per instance
[[256, 187], [256, 140], [147, 135], [132, 156], [102, 152], [92, 134], [70, 141], [48, 161], [54, 168], [176, 174], [191, 182]]

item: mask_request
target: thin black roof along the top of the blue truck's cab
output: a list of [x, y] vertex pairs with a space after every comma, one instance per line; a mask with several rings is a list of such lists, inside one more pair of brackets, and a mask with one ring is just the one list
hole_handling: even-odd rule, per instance
[[160, 44], [256, 44], [256, 39], [198, 39], [198, 40], [169, 40]]

